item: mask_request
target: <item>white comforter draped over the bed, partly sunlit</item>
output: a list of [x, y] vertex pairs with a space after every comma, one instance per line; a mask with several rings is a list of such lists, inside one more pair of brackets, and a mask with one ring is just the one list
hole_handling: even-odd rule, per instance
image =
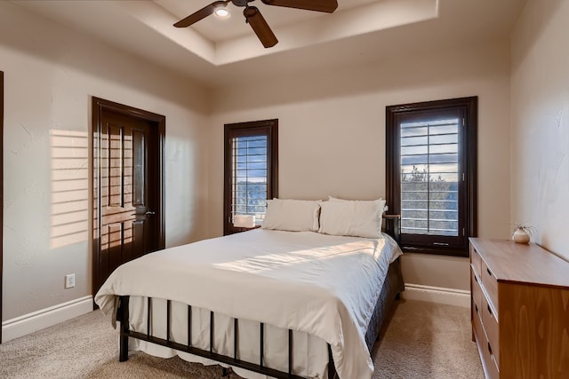
[[380, 239], [257, 229], [157, 251], [116, 269], [95, 296], [151, 296], [265, 322], [330, 343], [341, 379], [370, 378], [365, 330], [389, 263], [401, 250]]

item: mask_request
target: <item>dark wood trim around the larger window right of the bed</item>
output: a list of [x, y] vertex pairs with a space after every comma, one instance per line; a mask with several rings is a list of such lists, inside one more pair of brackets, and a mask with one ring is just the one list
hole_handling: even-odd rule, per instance
[[438, 244], [436, 237], [402, 234], [401, 245], [406, 252], [468, 257], [469, 237], [477, 236], [477, 97], [386, 107], [386, 197], [389, 213], [399, 214], [401, 212], [401, 134], [398, 122], [402, 117], [413, 117], [413, 114], [448, 109], [456, 109], [464, 115], [459, 151], [459, 162], [461, 162], [459, 170], [464, 175], [459, 184], [461, 233], [451, 239], [448, 246], [445, 246], [446, 242]]

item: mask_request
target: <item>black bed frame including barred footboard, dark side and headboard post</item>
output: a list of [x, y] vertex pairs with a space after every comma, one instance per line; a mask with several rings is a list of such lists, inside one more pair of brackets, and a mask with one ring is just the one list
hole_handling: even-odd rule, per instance
[[[397, 242], [399, 236], [399, 217], [385, 217], [385, 232], [389, 233]], [[381, 288], [381, 294], [378, 297], [378, 300], [375, 304], [375, 309], [373, 312], [373, 316], [370, 320], [370, 323], [367, 328], [367, 332], [365, 334], [365, 343], [367, 344], [368, 350], [372, 351], [373, 344], [379, 339], [381, 327], [384, 321], [387, 319], [389, 315], [389, 311], [393, 308], [394, 304], [396, 303], [399, 294], [405, 290], [405, 284], [403, 280], [403, 275], [401, 272], [401, 258], [397, 258], [395, 262], [389, 265], [389, 271], [386, 276], [386, 279], [383, 282], [383, 286]], [[212, 350], [212, 341], [214, 337], [215, 330], [210, 327], [209, 334], [210, 334], [210, 348], [209, 350], [199, 349], [190, 344], [181, 344], [176, 343], [170, 340], [170, 330], [171, 330], [171, 301], [168, 300], [166, 303], [166, 339], [158, 338], [156, 336], [152, 336], [150, 333], [151, 325], [150, 320], [151, 317], [149, 316], [152, 312], [152, 300], [148, 298], [148, 326], [147, 326], [147, 333], [140, 333], [135, 332], [129, 329], [129, 296], [120, 296], [119, 297], [119, 305], [116, 312], [116, 320], [120, 321], [120, 352], [119, 352], [119, 360], [125, 361], [128, 359], [128, 340], [129, 337], [136, 338], [142, 341], [147, 341], [149, 343], [156, 343], [158, 345], [170, 347], [177, 351], [184, 351], [188, 352], [200, 357], [204, 357], [206, 359], [212, 359], [218, 361], [220, 363], [225, 363], [229, 366], [233, 367], [241, 367], [253, 372], [258, 372], [263, 375], [268, 375], [271, 377], [276, 378], [298, 378], [302, 379], [299, 375], [292, 374], [292, 367], [293, 367], [293, 331], [289, 330], [289, 339], [288, 339], [288, 372], [278, 371], [270, 367], [265, 367], [263, 365], [263, 351], [264, 351], [264, 324], [260, 323], [260, 357], [259, 363], [253, 363], [249, 361], [244, 361], [241, 359], [237, 359], [236, 351], [238, 351], [238, 328], [239, 328], [239, 320], [235, 319], [234, 321], [234, 356], [226, 356], [216, 353]], [[213, 325], [213, 319], [215, 317], [214, 312], [210, 312], [210, 325]], [[190, 325], [192, 322], [192, 307], [188, 305], [188, 330], [191, 330]], [[191, 332], [188, 332], [191, 333]], [[188, 335], [188, 341], [191, 341], [191, 336]], [[333, 379], [337, 377], [336, 370], [333, 364], [332, 359], [332, 351], [330, 345], [328, 345], [328, 352], [329, 352], [329, 363], [328, 363], [328, 378]], [[227, 373], [227, 370], [224, 369], [224, 373]]]

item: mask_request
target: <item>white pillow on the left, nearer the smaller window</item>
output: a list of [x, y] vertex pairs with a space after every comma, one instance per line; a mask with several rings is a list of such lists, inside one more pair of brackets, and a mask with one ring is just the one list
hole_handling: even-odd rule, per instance
[[321, 201], [273, 199], [267, 201], [263, 229], [317, 232]]

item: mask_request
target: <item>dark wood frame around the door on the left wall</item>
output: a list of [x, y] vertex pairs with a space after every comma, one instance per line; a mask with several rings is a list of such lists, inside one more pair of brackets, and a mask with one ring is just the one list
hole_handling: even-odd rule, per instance
[[[97, 143], [100, 136], [100, 130], [102, 128], [101, 120], [102, 115], [105, 112], [112, 112], [118, 114], [124, 114], [133, 119], [143, 120], [149, 122], [152, 128], [157, 129], [158, 141], [154, 141], [158, 146], [158, 176], [159, 180], [156, 183], [157, 193], [159, 196], [159, 201], [156, 208], [156, 225], [158, 225], [158, 249], [165, 248], [165, 199], [164, 199], [164, 141], [166, 135], [166, 117], [162, 114], [155, 114], [152, 112], [145, 111], [143, 109], [125, 106], [124, 104], [119, 104], [113, 101], [100, 99], [92, 97], [92, 295], [95, 296], [98, 280], [96, 276], [99, 271], [99, 258], [100, 258], [100, 246], [98, 240], [98, 233], [100, 233], [100, 220], [101, 220], [101, 207], [100, 207], [100, 162], [99, 154], [97, 152]], [[150, 141], [152, 142], [152, 141]], [[99, 232], [98, 232], [99, 230]], [[93, 308], [96, 308], [96, 304], [93, 302]]]

